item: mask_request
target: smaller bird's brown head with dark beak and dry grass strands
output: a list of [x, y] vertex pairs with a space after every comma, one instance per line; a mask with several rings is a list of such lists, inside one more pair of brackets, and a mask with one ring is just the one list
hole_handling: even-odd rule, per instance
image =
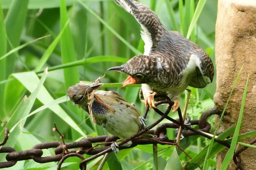
[[94, 91], [102, 85], [86, 85], [84, 83], [77, 83], [68, 88], [68, 97], [76, 105], [86, 105]]

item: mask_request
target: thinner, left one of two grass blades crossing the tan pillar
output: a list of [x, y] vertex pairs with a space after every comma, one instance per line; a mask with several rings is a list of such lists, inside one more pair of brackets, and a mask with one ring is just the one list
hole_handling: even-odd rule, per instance
[[215, 131], [214, 131], [213, 138], [212, 138], [212, 140], [210, 141], [209, 148], [208, 148], [208, 150], [207, 150], [207, 154], [206, 154], [206, 157], [205, 157], [205, 159], [204, 159], [204, 168], [203, 168], [203, 170], [206, 170], [206, 169], [207, 169], [207, 160], [208, 160], [208, 156], [209, 156], [209, 154], [210, 154], [210, 152], [211, 152], [211, 150], [212, 150], [212, 145], [213, 145], [213, 143], [214, 143], [214, 137], [216, 136], [216, 133], [217, 133], [219, 127], [220, 127], [220, 123], [221, 123], [221, 121], [222, 121], [222, 119], [223, 119], [223, 116], [224, 116], [224, 113], [225, 113], [226, 108], [227, 108], [227, 106], [228, 106], [228, 102], [229, 102], [229, 100], [230, 100], [230, 98], [231, 98], [231, 95], [232, 95], [234, 89], [236, 88], [236, 84], [237, 84], [237, 82], [238, 82], [238, 79], [239, 79], [239, 77], [240, 77], [240, 74], [241, 74], [241, 72], [242, 72], [242, 69], [243, 69], [243, 65], [242, 65], [242, 68], [240, 69], [240, 71], [239, 71], [239, 73], [238, 73], [238, 75], [237, 75], [237, 77], [236, 77], [235, 83], [234, 83], [234, 85], [233, 85], [233, 87], [232, 87], [232, 89], [231, 89], [231, 92], [230, 92], [230, 95], [229, 95], [229, 97], [228, 97], [228, 100], [227, 100], [227, 102], [226, 102], [226, 104], [225, 104], [225, 106], [224, 106], [224, 109], [223, 109], [223, 111], [222, 111], [222, 114], [221, 114], [221, 117], [220, 117], [220, 121], [218, 122], [218, 125], [217, 125], [217, 127], [216, 127], [216, 129], [215, 129]]

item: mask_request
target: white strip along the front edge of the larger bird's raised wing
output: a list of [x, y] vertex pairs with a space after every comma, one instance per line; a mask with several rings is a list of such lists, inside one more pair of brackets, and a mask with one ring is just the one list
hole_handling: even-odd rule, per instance
[[[124, 0], [115, 0], [115, 1], [117, 1], [118, 4], [120, 6], [122, 6], [122, 8], [124, 8], [127, 12], [129, 12], [130, 14], [132, 14], [132, 16], [134, 16], [134, 14], [132, 12], [132, 9], [130, 8], [130, 6]], [[134, 16], [134, 18], [137, 20], [138, 23], [140, 23], [138, 21], [138, 18], [136, 18], [136, 16]], [[145, 43], [145, 45], [144, 45], [144, 55], [150, 55], [151, 47], [153, 45], [151, 34], [148, 31], [148, 29], [144, 25], [142, 25], [141, 23], [140, 23], [140, 26], [143, 30], [143, 31], [141, 31], [140, 35], [141, 35], [142, 40]]]

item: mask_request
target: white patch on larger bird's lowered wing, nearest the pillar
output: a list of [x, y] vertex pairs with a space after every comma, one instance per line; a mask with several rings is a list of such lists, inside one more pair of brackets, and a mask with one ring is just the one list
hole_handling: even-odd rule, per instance
[[192, 54], [192, 55], [190, 55], [190, 58], [189, 58], [189, 61], [188, 61], [187, 67], [186, 67], [186, 72], [190, 73], [191, 71], [194, 71], [196, 69], [196, 67], [199, 68], [202, 76], [204, 77], [204, 81], [207, 83], [211, 83], [210, 78], [203, 75], [204, 73], [201, 68], [200, 58], [197, 55]]

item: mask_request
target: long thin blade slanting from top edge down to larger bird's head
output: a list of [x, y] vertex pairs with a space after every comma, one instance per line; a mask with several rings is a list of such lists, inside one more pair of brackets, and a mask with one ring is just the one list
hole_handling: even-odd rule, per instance
[[98, 16], [98, 14], [96, 14], [93, 10], [91, 10], [86, 4], [84, 4], [81, 0], [78, 0], [78, 2], [82, 4], [82, 6], [84, 6], [84, 8], [88, 10], [88, 12], [90, 12], [93, 16], [95, 16], [110, 32], [112, 32], [112, 34], [114, 34], [120, 41], [122, 41], [125, 45], [127, 45], [127, 47], [129, 47], [136, 55], [141, 54], [141, 52], [138, 51], [138, 49], [133, 47], [124, 38], [122, 38], [120, 34], [118, 34], [108, 23], [102, 20], [102, 18], [100, 18], [100, 16]]

